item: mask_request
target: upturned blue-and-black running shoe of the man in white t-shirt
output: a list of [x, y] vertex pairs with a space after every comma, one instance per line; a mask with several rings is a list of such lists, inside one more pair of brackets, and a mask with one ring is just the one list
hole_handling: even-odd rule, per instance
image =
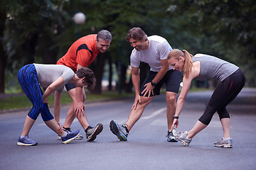
[[110, 122], [110, 130], [120, 141], [127, 141], [129, 131], [125, 125], [119, 126], [114, 120]]

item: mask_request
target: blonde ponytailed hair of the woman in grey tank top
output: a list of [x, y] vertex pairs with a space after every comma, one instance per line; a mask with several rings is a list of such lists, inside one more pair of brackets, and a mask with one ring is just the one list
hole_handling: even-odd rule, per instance
[[168, 57], [167, 60], [174, 58], [176, 60], [178, 60], [178, 57], [183, 57], [184, 60], [184, 67], [183, 67], [183, 72], [184, 72], [184, 77], [186, 77], [188, 79], [189, 74], [191, 74], [191, 69], [193, 66], [193, 61], [192, 61], [192, 57], [193, 55], [191, 55], [189, 52], [187, 52], [186, 50], [178, 50], [178, 49], [174, 49], [172, 50]]

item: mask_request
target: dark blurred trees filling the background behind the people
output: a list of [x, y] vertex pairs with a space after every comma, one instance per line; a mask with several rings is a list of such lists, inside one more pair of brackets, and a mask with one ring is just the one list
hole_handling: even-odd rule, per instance
[[[80, 26], [73, 21], [85, 13]], [[256, 1], [254, 0], [9, 0], [0, 2], [0, 93], [17, 87], [16, 73], [24, 64], [55, 64], [80, 36], [107, 29], [110, 49], [96, 57], [90, 68], [97, 77], [95, 93], [101, 93], [106, 72], [117, 89], [131, 91], [127, 81], [132, 47], [124, 40], [132, 27], [147, 35], [161, 35], [173, 48], [220, 57], [237, 64], [256, 86]], [[149, 69], [142, 64], [142, 77]], [[108, 86], [111, 90], [112, 86]]]

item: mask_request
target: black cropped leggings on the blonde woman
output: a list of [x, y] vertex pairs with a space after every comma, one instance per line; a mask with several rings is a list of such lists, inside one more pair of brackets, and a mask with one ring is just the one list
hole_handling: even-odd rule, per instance
[[216, 111], [220, 119], [230, 118], [226, 106], [238, 96], [243, 86], [245, 86], [245, 75], [238, 69], [224, 81], [221, 81], [216, 87], [199, 121], [205, 125], [209, 125]]

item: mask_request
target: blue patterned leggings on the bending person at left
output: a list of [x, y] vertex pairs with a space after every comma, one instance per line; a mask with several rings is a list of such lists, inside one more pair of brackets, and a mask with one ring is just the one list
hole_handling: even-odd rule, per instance
[[33, 104], [33, 107], [28, 112], [29, 118], [36, 120], [39, 113], [41, 113], [43, 121], [52, 120], [53, 115], [49, 111], [48, 104], [43, 103], [43, 91], [38, 84], [38, 77], [34, 64], [27, 64], [18, 71], [18, 82], [21, 84], [23, 91]]

